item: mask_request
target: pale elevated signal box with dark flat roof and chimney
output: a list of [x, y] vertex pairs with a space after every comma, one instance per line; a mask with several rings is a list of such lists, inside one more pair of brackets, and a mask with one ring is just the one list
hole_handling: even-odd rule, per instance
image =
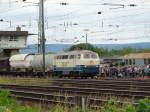
[[0, 31], [0, 49], [4, 56], [19, 53], [19, 49], [27, 47], [28, 31]]

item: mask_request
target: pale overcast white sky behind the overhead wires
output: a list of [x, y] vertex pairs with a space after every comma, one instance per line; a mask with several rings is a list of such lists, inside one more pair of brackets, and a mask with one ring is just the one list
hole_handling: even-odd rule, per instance
[[[0, 30], [22, 26], [37, 34], [38, 0], [16, 1], [0, 0], [0, 18], [5, 20], [0, 22]], [[68, 5], [60, 5], [62, 2]], [[150, 1], [46, 0], [45, 29], [47, 43], [85, 42], [86, 32], [90, 43], [150, 42]], [[28, 43], [37, 43], [37, 38], [29, 37]]]

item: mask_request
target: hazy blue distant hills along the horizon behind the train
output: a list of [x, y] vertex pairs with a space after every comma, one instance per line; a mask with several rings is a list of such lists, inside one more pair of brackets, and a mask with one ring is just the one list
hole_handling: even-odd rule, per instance
[[[46, 52], [62, 52], [68, 49], [72, 44], [47, 44]], [[134, 44], [95, 44], [97, 47], [111, 49], [122, 49], [126, 47], [141, 49], [150, 48], [150, 43], [134, 43]], [[29, 45], [28, 48], [20, 50], [21, 53], [37, 53], [37, 45]]]

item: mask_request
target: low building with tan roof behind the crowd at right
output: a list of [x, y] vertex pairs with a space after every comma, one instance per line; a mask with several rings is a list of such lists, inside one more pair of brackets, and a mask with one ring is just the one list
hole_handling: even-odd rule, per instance
[[126, 65], [143, 66], [150, 64], [150, 53], [131, 53], [124, 56]]

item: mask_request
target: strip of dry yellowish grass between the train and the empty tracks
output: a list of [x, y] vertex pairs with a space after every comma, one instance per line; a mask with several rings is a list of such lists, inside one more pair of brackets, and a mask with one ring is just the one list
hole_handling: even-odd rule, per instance
[[[94, 82], [94, 81], [150, 81], [150, 78], [147, 77], [138, 77], [138, 78], [101, 78], [101, 79], [69, 79], [69, 78], [36, 78], [36, 77], [13, 77], [13, 76], [0, 76], [0, 84], [19, 84], [19, 85], [40, 85], [40, 86], [50, 86], [56, 83], [64, 83], [64, 86], [69, 86], [71, 81], [84, 81], [84, 82]], [[60, 82], [59, 82], [60, 81]], [[56, 83], [55, 83], [56, 82]]]

